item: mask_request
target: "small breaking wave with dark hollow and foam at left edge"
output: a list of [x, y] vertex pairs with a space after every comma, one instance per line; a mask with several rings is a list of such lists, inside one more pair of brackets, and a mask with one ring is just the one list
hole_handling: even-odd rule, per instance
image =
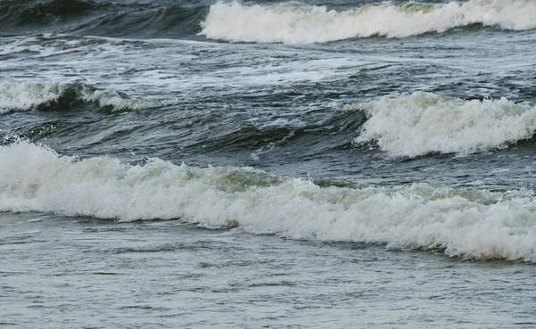
[[114, 111], [139, 110], [157, 106], [150, 100], [130, 99], [110, 89], [96, 89], [79, 83], [0, 83], [0, 113], [28, 110], [69, 110], [83, 103], [96, 103]]

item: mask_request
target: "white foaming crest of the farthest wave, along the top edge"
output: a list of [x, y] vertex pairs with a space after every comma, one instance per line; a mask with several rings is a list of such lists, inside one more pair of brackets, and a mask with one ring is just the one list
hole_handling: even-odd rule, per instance
[[231, 42], [323, 43], [353, 37], [410, 37], [471, 24], [501, 29], [536, 28], [532, 0], [470, 0], [466, 3], [385, 2], [356, 10], [284, 4], [214, 4], [202, 22], [208, 38]]

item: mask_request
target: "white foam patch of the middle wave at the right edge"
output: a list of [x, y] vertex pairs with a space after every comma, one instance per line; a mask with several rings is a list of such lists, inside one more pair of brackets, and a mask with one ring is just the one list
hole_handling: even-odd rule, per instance
[[376, 143], [393, 156], [482, 152], [531, 138], [536, 131], [536, 107], [506, 98], [465, 101], [416, 92], [344, 108], [369, 117], [355, 144]]

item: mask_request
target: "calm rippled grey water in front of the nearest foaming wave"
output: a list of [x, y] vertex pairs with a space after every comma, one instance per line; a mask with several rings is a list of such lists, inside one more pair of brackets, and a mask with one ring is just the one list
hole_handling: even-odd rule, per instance
[[524, 264], [178, 221], [4, 214], [1, 228], [7, 327], [534, 325]]

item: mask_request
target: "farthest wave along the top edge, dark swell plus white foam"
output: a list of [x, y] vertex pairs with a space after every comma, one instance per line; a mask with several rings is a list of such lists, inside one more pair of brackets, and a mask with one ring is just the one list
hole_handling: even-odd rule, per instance
[[382, 2], [334, 10], [277, 4], [147, 4], [90, 0], [5, 0], [0, 30], [8, 34], [76, 33], [108, 37], [195, 37], [231, 42], [323, 43], [353, 37], [410, 37], [472, 24], [536, 28], [532, 0], [469, 0], [447, 4]]

